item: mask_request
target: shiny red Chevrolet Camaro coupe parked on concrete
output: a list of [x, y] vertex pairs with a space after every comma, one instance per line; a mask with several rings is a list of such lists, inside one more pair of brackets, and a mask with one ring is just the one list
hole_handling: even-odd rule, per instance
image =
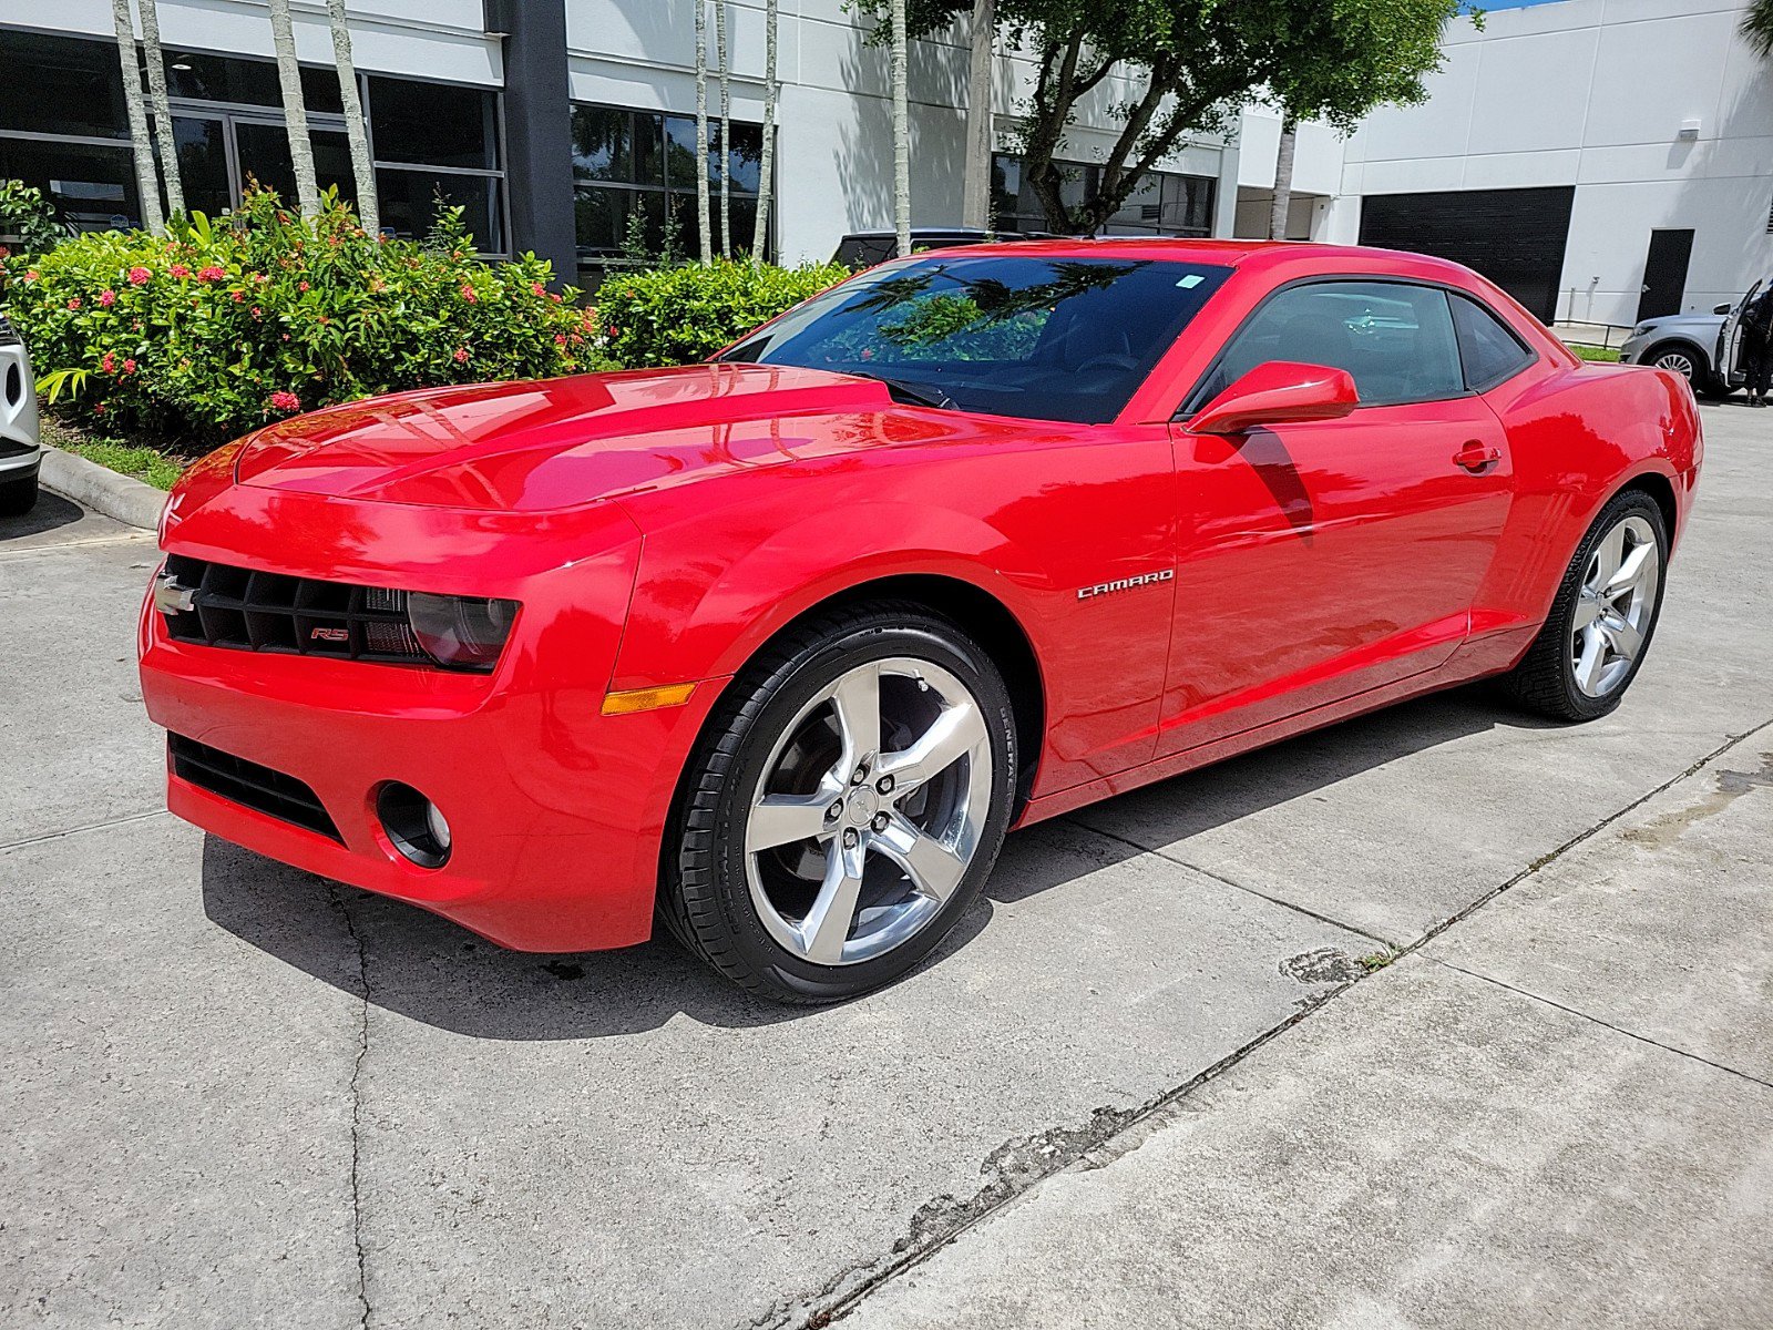
[[711, 364], [275, 424], [174, 493], [168, 805], [507, 947], [876, 988], [1011, 826], [1502, 676], [1615, 708], [1688, 387], [1456, 264], [1211, 241], [888, 262]]

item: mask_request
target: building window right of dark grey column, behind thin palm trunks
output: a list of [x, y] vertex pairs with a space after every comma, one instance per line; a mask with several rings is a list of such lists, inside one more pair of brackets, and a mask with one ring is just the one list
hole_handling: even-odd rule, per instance
[[[732, 248], [750, 254], [757, 229], [762, 126], [732, 122], [722, 151], [720, 121], [709, 121], [707, 172], [715, 250], [720, 250], [720, 181], [729, 179]], [[578, 261], [585, 280], [628, 261], [635, 239], [647, 254], [700, 250], [695, 119], [626, 106], [573, 106], [573, 179]]]

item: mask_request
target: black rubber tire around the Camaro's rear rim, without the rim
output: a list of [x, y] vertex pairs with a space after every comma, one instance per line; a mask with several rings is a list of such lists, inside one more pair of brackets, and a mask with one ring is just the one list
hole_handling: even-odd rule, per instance
[[[1576, 685], [1576, 667], [1571, 658], [1573, 621], [1582, 599], [1583, 575], [1601, 539], [1621, 521], [1633, 516], [1647, 521], [1656, 537], [1656, 557], [1660, 560], [1656, 598], [1651, 606], [1649, 622], [1644, 628], [1644, 644], [1638, 647], [1631, 667], [1603, 697], [1590, 697]], [[1539, 637], [1534, 638], [1534, 644], [1521, 656], [1519, 663], [1509, 674], [1502, 676], [1500, 685], [1504, 693], [1527, 711], [1537, 711], [1555, 720], [1597, 720], [1613, 711], [1624, 700], [1626, 690], [1636, 679], [1638, 669], [1642, 669], [1644, 658], [1649, 654], [1651, 638], [1656, 635], [1656, 624], [1661, 619], [1661, 598], [1668, 585], [1667, 571], [1668, 528], [1663, 523], [1661, 509], [1642, 489], [1626, 489], [1615, 495], [1601, 509], [1594, 525], [1589, 527], [1589, 532], [1582, 537], [1582, 544], [1576, 546], [1576, 553], [1569, 560], [1564, 580], [1558, 583], [1557, 599], [1551, 603], [1551, 614], [1546, 615]]]

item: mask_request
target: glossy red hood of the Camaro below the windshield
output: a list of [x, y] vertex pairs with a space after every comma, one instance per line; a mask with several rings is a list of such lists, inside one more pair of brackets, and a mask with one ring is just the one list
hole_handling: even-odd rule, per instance
[[427, 388], [259, 431], [239, 484], [388, 504], [541, 512], [709, 472], [894, 442], [872, 379], [778, 365]]

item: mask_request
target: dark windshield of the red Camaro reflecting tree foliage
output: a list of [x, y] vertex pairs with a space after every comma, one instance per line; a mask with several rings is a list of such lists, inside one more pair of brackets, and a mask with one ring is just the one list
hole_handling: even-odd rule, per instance
[[814, 296], [720, 358], [860, 374], [929, 406], [1103, 424], [1229, 275], [1156, 259], [908, 259]]

